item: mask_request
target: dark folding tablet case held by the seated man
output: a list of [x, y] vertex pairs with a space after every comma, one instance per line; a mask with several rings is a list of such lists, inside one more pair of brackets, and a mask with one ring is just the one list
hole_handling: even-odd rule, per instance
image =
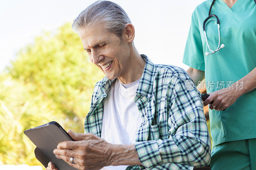
[[[58, 124], [57, 122], [55, 123]], [[59, 126], [56, 124], [49, 122], [36, 128], [25, 130], [24, 133], [37, 146], [35, 149], [36, 159], [45, 168], [51, 161], [59, 170], [77, 170], [64, 160], [56, 158], [53, 154], [53, 150], [57, 148], [60, 142], [72, 140], [66, 135], [66, 131], [59, 124]]]

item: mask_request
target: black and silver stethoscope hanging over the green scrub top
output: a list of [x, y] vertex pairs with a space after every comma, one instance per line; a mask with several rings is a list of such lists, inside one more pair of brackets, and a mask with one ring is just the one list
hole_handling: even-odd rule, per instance
[[[225, 45], [224, 44], [221, 44], [220, 45], [220, 20], [219, 18], [217, 17], [217, 15], [214, 15], [212, 14], [211, 15], [211, 10], [212, 10], [212, 5], [214, 4], [215, 0], [212, 1], [212, 4], [211, 4], [211, 7], [210, 7], [210, 10], [209, 10], [209, 15], [208, 17], [204, 20], [204, 24], [203, 24], [203, 28], [204, 28], [204, 36], [205, 36], [205, 40], [206, 40], [206, 44], [207, 44], [207, 47], [209, 48], [210, 51], [212, 51], [212, 53], [208, 53], [208, 52], [205, 52], [205, 55], [209, 55], [209, 54], [214, 54], [216, 53], [217, 51], [219, 51], [221, 48], [224, 48]], [[256, 0], [254, 0], [255, 4], [256, 4]], [[211, 20], [215, 20], [217, 22], [217, 26], [218, 26], [218, 32], [219, 32], [219, 44], [218, 44], [218, 47], [216, 50], [212, 50], [208, 44], [208, 40], [207, 40], [207, 36], [206, 36], [206, 32], [205, 32], [205, 25], [208, 23], [206, 22], [209, 18], [211, 17], [215, 17], [217, 19], [217, 21], [215, 19], [211, 19]]]

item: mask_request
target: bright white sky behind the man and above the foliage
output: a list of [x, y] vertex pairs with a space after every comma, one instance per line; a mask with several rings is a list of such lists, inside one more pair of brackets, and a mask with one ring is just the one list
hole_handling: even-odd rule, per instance
[[[112, 0], [129, 15], [135, 27], [134, 44], [154, 63], [179, 66], [191, 15], [204, 0]], [[0, 5], [0, 71], [15, 60], [17, 51], [32, 43], [43, 30], [54, 31], [73, 22], [94, 0], [8, 0]], [[82, 42], [81, 42], [82, 45]]]

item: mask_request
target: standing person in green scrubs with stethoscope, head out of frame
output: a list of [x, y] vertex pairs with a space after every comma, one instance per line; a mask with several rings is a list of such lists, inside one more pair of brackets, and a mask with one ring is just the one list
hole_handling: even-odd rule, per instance
[[[220, 21], [220, 44], [211, 53], [203, 23], [212, 0], [198, 5], [185, 47], [183, 63], [194, 83], [205, 78], [212, 134], [210, 165], [215, 169], [256, 169], [256, 2], [216, 0], [211, 13]], [[218, 48], [215, 17], [205, 25], [209, 47]], [[226, 110], [225, 110], [226, 109]]]

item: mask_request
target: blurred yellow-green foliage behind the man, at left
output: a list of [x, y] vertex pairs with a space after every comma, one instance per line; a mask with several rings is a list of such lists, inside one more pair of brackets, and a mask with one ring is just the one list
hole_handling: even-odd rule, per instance
[[23, 131], [56, 121], [83, 133], [93, 87], [104, 74], [70, 23], [21, 49], [8, 70], [0, 74], [0, 165], [40, 165]]

